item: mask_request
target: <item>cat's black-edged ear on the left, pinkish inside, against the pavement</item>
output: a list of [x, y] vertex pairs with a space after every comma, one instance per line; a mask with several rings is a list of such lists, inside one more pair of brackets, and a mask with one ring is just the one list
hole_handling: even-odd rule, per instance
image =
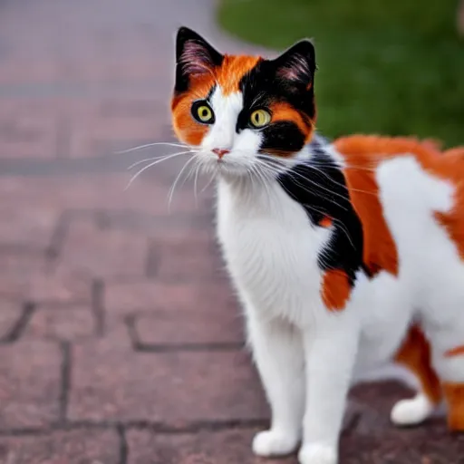
[[176, 91], [185, 92], [193, 76], [212, 73], [224, 56], [188, 27], [180, 27], [176, 38]]

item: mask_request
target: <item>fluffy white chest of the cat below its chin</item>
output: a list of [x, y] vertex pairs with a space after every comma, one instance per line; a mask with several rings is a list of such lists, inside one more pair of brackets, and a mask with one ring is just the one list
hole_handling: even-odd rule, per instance
[[269, 187], [266, 195], [241, 197], [219, 185], [218, 238], [228, 271], [239, 290], [269, 310], [288, 298], [307, 303], [319, 295], [317, 260], [328, 231], [313, 227], [280, 186]]

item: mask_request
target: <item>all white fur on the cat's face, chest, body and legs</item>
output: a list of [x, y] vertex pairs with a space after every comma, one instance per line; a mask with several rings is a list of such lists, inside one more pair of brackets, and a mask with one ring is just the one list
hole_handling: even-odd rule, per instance
[[[275, 179], [264, 182], [249, 173], [257, 166], [260, 133], [236, 133], [241, 104], [239, 94], [224, 97], [218, 88], [212, 98], [217, 123], [198, 156], [219, 171], [218, 237], [272, 409], [271, 428], [256, 435], [253, 449], [262, 456], [286, 454], [303, 440], [301, 464], [336, 464], [354, 373], [388, 362], [413, 318], [430, 337], [441, 378], [464, 382], [464, 359], [443, 356], [463, 343], [464, 266], [433, 217], [452, 208], [453, 189], [412, 156], [382, 163], [377, 181], [400, 273], [359, 274], [346, 308], [334, 314], [324, 307], [317, 266], [331, 231], [313, 227]], [[231, 152], [218, 164], [214, 148]], [[432, 410], [419, 393], [399, 402], [391, 419], [417, 423]]]

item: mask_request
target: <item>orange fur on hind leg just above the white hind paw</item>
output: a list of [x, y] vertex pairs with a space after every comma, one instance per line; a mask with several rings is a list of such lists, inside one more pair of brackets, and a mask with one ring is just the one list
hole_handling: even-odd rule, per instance
[[410, 328], [394, 360], [419, 378], [422, 391], [430, 401], [440, 403], [440, 379], [431, 365], [430, 343], [417, 325]]

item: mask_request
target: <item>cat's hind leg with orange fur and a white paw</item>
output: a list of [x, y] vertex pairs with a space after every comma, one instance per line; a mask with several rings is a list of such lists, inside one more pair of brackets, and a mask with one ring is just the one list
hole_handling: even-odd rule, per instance
[[421, 390], [414, 398], [398, 401], [391, 410], [391, 421], [398, 426], [420, 424], [428, 419], [440, 404], [440, 379], [431, 365], [430, 343], [418, 326], [406, 335], [395, 361], [414, 373]]

